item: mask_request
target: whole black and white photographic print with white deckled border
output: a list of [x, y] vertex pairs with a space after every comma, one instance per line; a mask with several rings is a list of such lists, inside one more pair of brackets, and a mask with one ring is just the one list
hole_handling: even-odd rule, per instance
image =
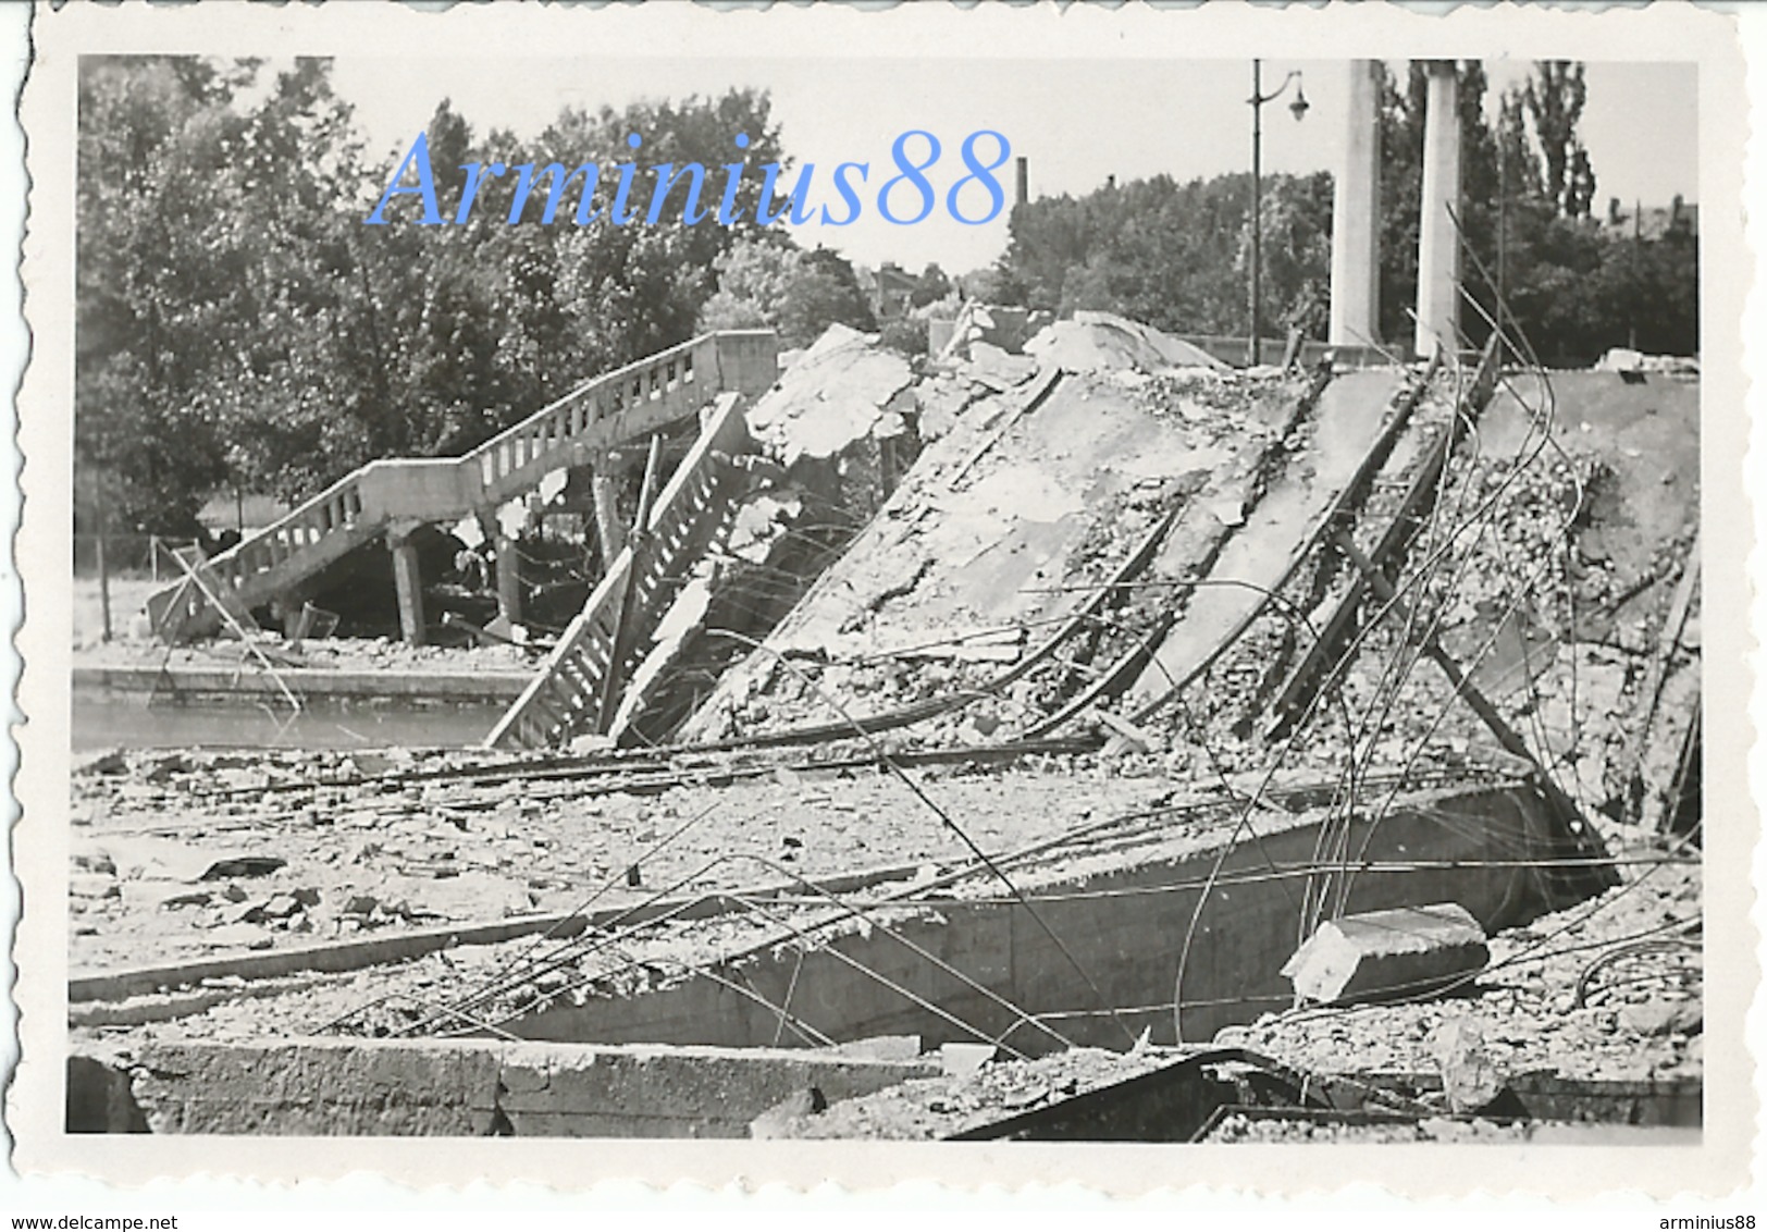
[[401, 7], [35, 18], [58, 1151], [1746, 1168], [1721, 19]]

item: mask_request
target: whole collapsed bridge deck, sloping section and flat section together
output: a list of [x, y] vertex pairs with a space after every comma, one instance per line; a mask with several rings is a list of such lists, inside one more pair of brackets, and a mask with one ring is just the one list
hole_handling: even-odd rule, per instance
[[[921, 373], [836, 338], [762, 396], [758, 465], [631, 647], [657, 705], [615, 739], [654, 748], [81, 780], [99, 1069], [265, 1023], [1196, 1043], [1286, 1004], [1346, 912], [1500, 933], [1696, 868], [1696, 385], [1150, 373], [1078, 327], [1062, 366]], [[1696, 1068], [1650, 1025], [1612, 1030]]]

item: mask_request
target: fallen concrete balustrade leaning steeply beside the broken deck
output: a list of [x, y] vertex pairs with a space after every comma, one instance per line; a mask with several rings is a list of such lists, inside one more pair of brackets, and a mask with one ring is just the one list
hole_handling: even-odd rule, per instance
[[539, 675], [486, 737], [486, 748], [550, 748], [580, 732], [606, 730], [608, 700], [643, 659], [694, 560], [730, 532], [744, 481], [737, 458], [749, 449], [744, 401], [737, 394], [717, 399], [700, 438], [652, 504], [645, 532], [633, 536], [608, 567]]

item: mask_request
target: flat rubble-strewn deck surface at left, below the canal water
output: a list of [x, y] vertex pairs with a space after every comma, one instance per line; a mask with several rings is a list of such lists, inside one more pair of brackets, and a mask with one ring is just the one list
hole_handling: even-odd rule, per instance
[[[645, 794], [590, 794], [574, 780], [412, 778], [484, 760], [403, 749], [88, 758], [72, 790], [69, 962], [148, 965], [567, 912], [590, 894], [618, 909], [689, 877], [694, 893], [781, 880], [746, 856], [804, 877], [968, 859], [922, 801], [876, 769], [779, 767], [733, 787], [686, 774]], [[984, 850], [1173, 792], [1163, 778], [1088, 758], [1055, 772], [919, 767], [914, 778]], [[634, 864], [638, 887], [626, 884]]]

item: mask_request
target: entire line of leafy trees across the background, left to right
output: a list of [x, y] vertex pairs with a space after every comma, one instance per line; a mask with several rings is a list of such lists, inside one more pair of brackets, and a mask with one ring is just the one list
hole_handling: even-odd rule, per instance
[[[1461, 76], [1465, 228], [1477, 267], [1548, 362], [1613, 345], [1698, 346], [1691, 228], [1629, 239], [1590, 217], [1576, 136], [1578, 65], [1537, 65], [1486, 115]], [[1424, 78], [1387, 78], [1382, 327], [1408, 336], [1415, 292]], [[311, 495], [387, 456], [459, 454], [581, 380], [701, 329], [767, 325], [785, 346], [829, 323], [876, 329], [853, 267], [762, 228], [760, 168], [792, 164], [765, 92], [565, 108], [532, 141], [477, 131], [449, 103], [424, 133], [435, 166], [617, 164], [643, 136], [657, 163], [730, 163], [746, 133], [739, 221], [687, 226], [364, 226], [398, 152], [369, 157], [327, 60], [88, 57], [80, 76], [76, 520], [198, 534], [216, 493]], [[1000, 262], [959, 279], [991, 302], [1120, 311], [1175, 332], [1246, 323], [1248, 175], [1108, 186], [1018, 207]], [[405, 202], [406, 207], [415, 205]], [[1323, 334], [1332, 180], [1270, 177], [1262, 207], [1265, 320]], [[389, 216], [392, 210], [389, 209]], [[1500, 255], [1498, 255], [1500, 253]], [[1495, 313], [1495, 276], [1468, 288]], [[951, 281], [928, 267], [917, 316]], [[1474, 341], [1479, 313], [1465, 313]], [[884, 322], [924, 346], [924, 322]]]

